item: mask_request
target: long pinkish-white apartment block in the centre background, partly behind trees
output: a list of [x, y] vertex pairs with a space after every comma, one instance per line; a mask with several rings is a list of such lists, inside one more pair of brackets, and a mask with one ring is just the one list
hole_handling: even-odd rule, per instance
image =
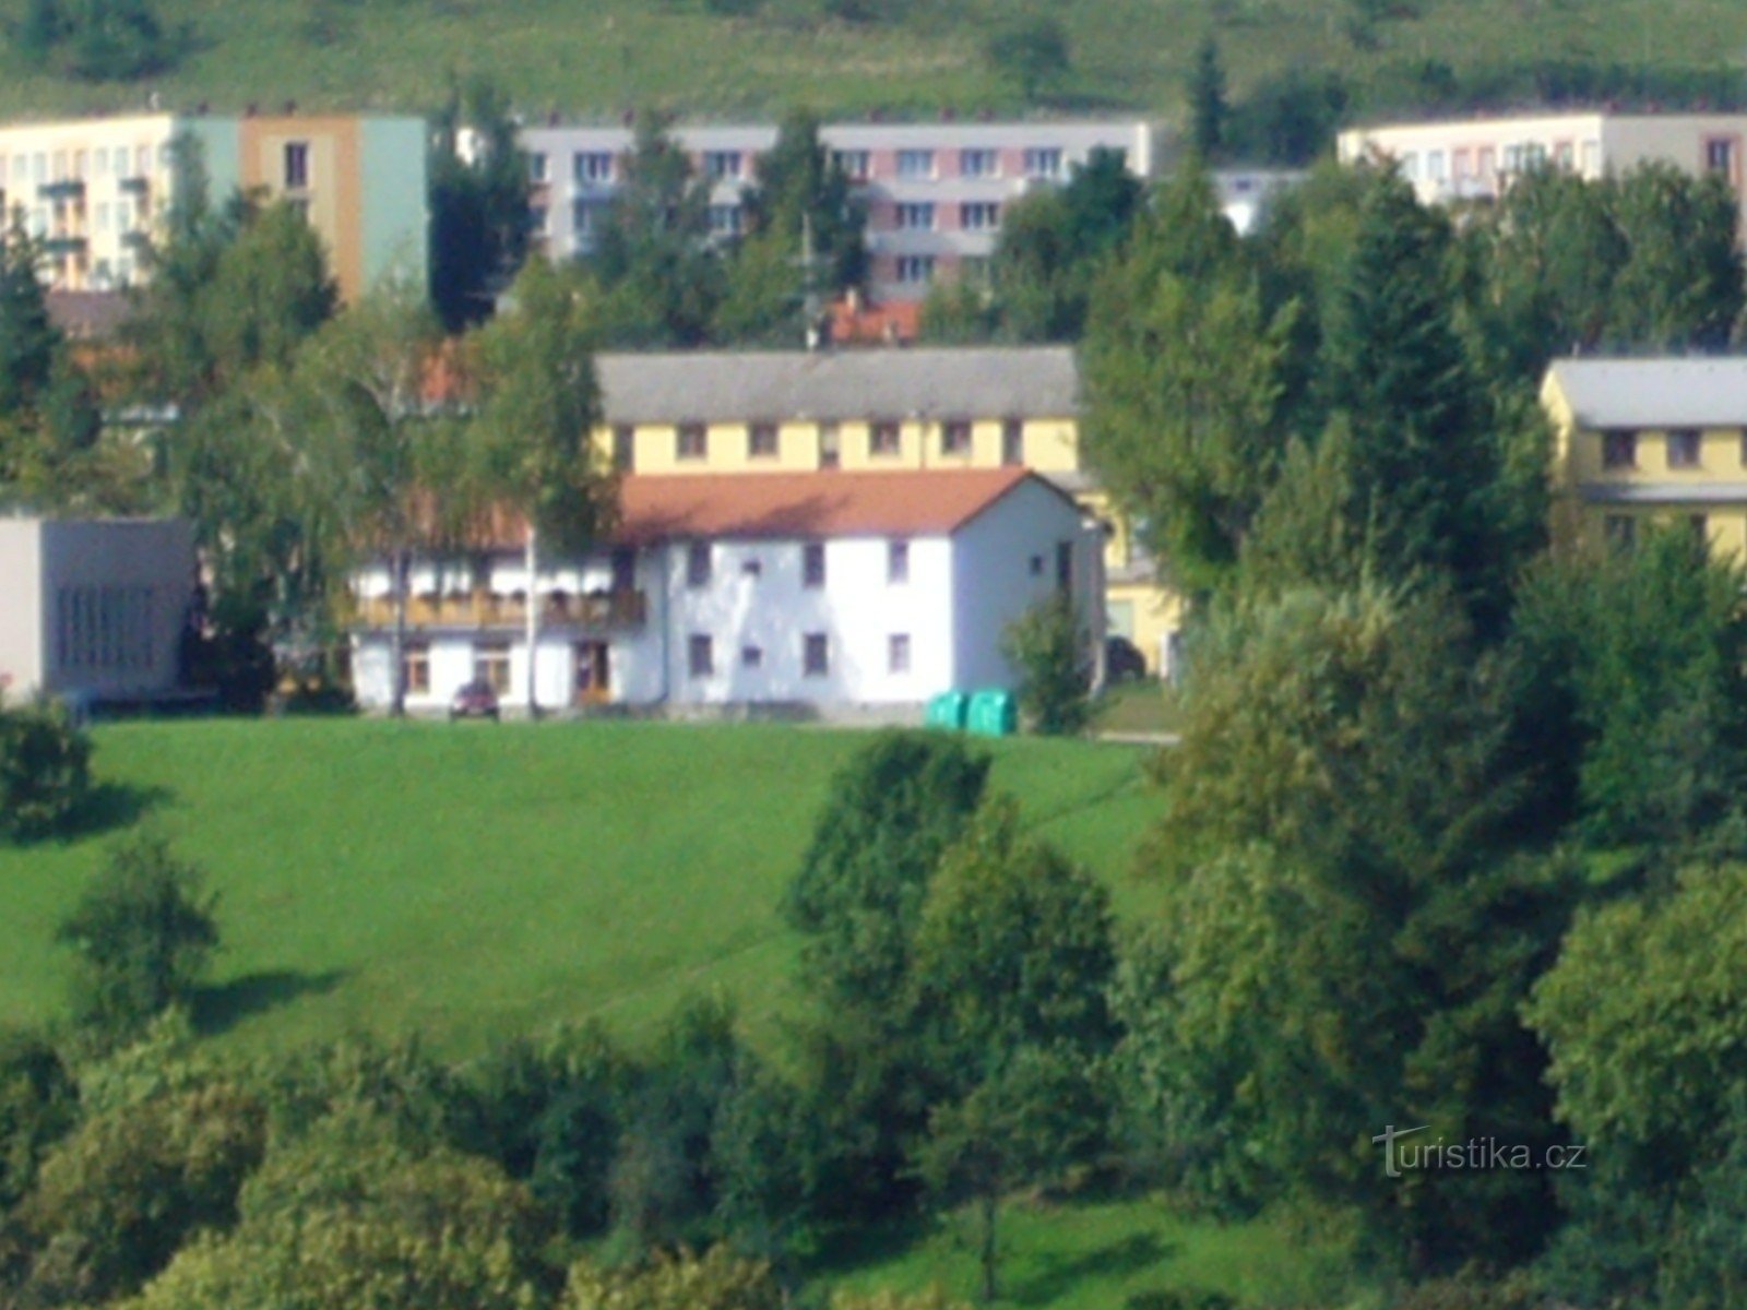
[[[709, 224], [722, 238], [744, 225], [769, 124], [681, 124], [674, 140], [709, 180]], [[1005, 208], [1038, 187], [1066, 183], [1092, 150], [1122, 154], [1139, 178], [1158, 171], [1158, 134], [1127, 122], [833, 122], [819, 138], [868, 210], [868, 290], [877, 300], [921, 299], [936, 278], [975, 274], [994, 253]], [[533, 229], [552, 257], [592, 248], [624, 182], [631, 128], [524, 128]]]

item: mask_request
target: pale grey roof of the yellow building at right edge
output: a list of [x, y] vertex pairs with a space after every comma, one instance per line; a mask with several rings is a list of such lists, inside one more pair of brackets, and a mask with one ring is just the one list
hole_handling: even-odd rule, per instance
[[1747, 358], [1555, 360], [1583, 428], [1747, 426]]

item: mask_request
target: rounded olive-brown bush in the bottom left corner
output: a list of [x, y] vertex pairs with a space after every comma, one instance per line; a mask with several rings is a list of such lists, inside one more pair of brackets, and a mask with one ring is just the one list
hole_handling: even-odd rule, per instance
[[232, 1221], [264, 1146], [260, 1102], [224, 1078], [91, 1114], [49, 1151], [19, 1207], [35, 1252], [24, 1303], [136, 1291], [185, 1238]]

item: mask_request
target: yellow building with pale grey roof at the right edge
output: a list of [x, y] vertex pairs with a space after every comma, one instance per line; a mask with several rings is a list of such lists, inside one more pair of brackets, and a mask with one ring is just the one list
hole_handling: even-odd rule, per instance
[[1557, 360], [1541, 403], [1560, 531], [1628, 545], [1684, 524], [1747, 559], [1747, 358]]

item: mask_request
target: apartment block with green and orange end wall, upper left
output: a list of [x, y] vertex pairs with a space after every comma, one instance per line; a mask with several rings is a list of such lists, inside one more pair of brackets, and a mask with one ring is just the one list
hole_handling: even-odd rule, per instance
[[428, 264], [426, 131], [416, 117], [145, 114], [0, 128], [0, 211], [47, 253], [58, 292], [138, 281], [194, 141], [215, 201], [287, 199], [320, 232], [341, 295]]

